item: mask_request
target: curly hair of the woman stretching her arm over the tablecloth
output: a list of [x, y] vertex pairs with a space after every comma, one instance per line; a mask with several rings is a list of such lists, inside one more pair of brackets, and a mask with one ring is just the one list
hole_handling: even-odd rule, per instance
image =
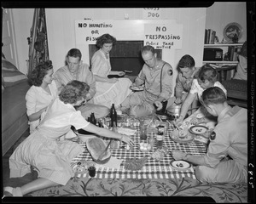
[[59, 97], [65, 104], [75, 104], [79, 99], [86, 98], [89, 89], [87, 83], [73, 80], [61, 89]]

